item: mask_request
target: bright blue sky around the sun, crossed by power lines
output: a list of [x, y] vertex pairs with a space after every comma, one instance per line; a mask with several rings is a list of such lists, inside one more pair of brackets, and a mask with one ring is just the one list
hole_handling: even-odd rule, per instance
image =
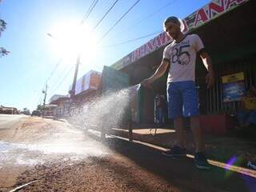
[[[67, 94], [74, 76], [75, 57], [60, 53], [59, 46], [56, 46], [58, 42], [46, 34], [52, 33], [60, 23], [66, 25], [66, 28], [62, 29], [62, 31], [66, 31], [69, 29], [70, 21], [81, 22], [92, 2], [93, 0], [3, 0], [0, 2], [0, 18], [7, 22], [7, 29], [0, 37], [0, 46], [10, 50], [8, 56], [0, 58], [0, 105], [15, 106], [18, 109], [27, 107], [34, 110], [42, 101], [42, 88], [49, 77], [47, 102], [53, 94]], [[136, 0], [119, 0], [110, 14], [94, 30], [94, 42], [101, 38], [134, 2]], [[169, 2], [173, 3], [154, 14], [153, 17], [135, 25]], [[210, 1], [141, 0], [122, 19], [122, 22], [119, 22], [102, 40], [98, 45], [98, 50], [94, 54], [90, 54], [91, 57], [84, 56], [82, 58], [78, 77], [86, 74], [89, 70], [101, 72], [104, 65], [110, 66], [154, 36], [122, 46], [104, 49], [101, 46], [126, 42], [160, 31], [162, 30], [162, 21], [166, 17], [175, 15], [185, 18], [208, 2]], [[99, 0], [87, 18], [85, 26], [89, 30], [92, 29], [113, 3], [114, 0]], [[61, 35], [60, 33], [62, 32], [56, 34], [56, 38]], [[65, 45], [65, 41], [62, 42], [62, 45]], [[72, 48], [68, 49], [72, 50]], [[84, 54], [86, 55], [86, 53]], [[50, 76], [61, 58], [62, 62]]]

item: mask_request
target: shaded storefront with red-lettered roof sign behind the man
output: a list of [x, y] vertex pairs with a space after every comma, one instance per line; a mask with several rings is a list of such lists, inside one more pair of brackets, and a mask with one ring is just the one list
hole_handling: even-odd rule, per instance
[[[256, 85], [255, 7], [255, 1], [252, 0], [214, 0], [182, 20], [184, 33], [198, 34], [214, 63], [216, 81], [214, 87], [208, 90], [205, 83], [206, 69], [201, 59], [197, 60], [196, 83], [202, 115], [236, 114], [245, 90]], [[164, 47], [171, 41], [165, 33], [159, 34], [112, 67], [129, 74], [131, 85], [136, 85], [154, 74], [162, 61]], [[236, 75], [240, 75], [240, 84], [234, 80], [232, 84], [231, 80], [227, 85], [223, 81]], [[166, 77], [167, 73], [154, 82], [154, 90], [144, 90], [139, 122], [154, 122], [154, 96], [156, 93], [166, 94]], [[238, 95], [234, 98], [230, 90], [237, 89], [235, 87], [238, 84], [242, 93], [237, 93], [240, 98]], [[235, 91], [239, 92], [238, 89]]]

